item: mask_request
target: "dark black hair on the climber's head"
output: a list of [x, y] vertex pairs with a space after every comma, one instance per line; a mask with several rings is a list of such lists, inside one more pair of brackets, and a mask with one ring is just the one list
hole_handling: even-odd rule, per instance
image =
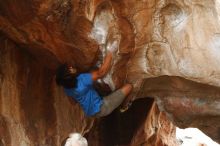
[[69, 71], [68, 64], [60, 65], [56, 70], [56, 83], [64, 88], [75, 88], [77, 85], [77, 73]]

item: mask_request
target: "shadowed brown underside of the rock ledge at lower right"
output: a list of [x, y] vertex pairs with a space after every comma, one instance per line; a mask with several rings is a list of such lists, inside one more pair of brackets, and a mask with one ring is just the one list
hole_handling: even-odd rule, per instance
[[160, 111], [178, 127], [198, 127], [219, 140], [220, 88], [180, 77], [146, 79], [139, 97], [155, 97]]

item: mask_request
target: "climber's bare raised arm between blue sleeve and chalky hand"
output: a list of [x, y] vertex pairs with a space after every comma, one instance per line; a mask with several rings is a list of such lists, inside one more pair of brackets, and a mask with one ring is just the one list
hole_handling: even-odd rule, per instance
[[92, 80], [96, 81], [99, 78], [104, 77], [110, 69], [112, 61], [112, 52], [108, 52], [108, 54], [104, 58], [104, 62], [98, 70], [93, 71]]

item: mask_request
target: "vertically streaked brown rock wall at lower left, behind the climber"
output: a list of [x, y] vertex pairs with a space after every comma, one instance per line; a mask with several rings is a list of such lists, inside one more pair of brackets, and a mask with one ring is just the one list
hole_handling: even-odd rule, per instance
[[0, 42], [1, 146], [55, 146], [90, 129], [93, 119], [54, 86], [50, 70], [10, 40]]

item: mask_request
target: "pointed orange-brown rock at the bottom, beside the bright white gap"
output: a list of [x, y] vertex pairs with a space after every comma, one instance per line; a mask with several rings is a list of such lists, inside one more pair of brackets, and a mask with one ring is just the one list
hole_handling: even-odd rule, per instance
[[132, 139], [131, 146], [176, 146], [175, 126], [160, 112], [154, 103], [143, 125]]

